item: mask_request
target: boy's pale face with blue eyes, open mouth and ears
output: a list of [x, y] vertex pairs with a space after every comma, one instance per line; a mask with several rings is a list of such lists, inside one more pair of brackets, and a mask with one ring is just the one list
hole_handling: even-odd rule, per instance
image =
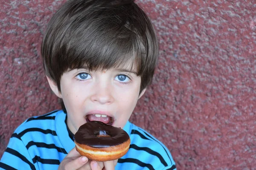
[[136, 71], [130, 72], [129, 68], [66, 71], [61, 77], [61, 93], [47, 77], [52, 91], [63, 99], [67, 109], [67, 125], [72, 133], [93, 120], [115, 127], [125, 126], [137, 100], [145, 92], [139, 95], [141, 77], [136, 75]]

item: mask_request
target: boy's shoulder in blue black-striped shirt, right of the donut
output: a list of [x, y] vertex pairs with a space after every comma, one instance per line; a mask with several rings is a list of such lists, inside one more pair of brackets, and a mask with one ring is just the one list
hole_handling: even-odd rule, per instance
[[132, 123], [130, 127], [131, 145], [128, 154], [130, 157], [134, 157], [134, 159], [136, 158], [137, 163], [139, 163], [140, 166], [143, 165], [148, 167], [148, 169], [159, 170], [162, 170], [165, 167], [176, 168], [171, 153], [162, 142], [146, 130], [137, 127]]

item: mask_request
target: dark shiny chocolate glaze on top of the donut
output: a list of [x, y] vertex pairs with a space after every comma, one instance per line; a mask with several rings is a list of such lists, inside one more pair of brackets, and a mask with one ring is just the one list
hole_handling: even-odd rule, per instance
[[[105, 135], [111, 137], [102, 137]], [[77, 143], [96, 148], [116, 146], [130, 138], [125, 130], [99, 121], [81, 125], [74, 137]]]

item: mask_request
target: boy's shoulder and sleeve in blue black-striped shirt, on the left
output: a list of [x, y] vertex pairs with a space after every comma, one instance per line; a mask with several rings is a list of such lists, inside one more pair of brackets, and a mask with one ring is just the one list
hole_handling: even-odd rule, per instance
[[[17, 127], [0, 160], [0, 167], [38, 169], [36, 162], [40, 162], [40, 164], [50, 162], [52, 166], [54, 164], [58, 165], [60, 162], [58, 160], [59, 153], [64, 153], [63, 156], [67, 154], [63, 148], [55, 145], [58, 138], [55, 131], [55, 117], [62, 115], [61, 113], [63, 112], [53, 111], [42, 116], [34, 116]], [[51, 159], [48, 159], [47, 153], [49, 153], [49, 150]], [[44, 164], [44, 166], [47, 166], [47, 164]]]

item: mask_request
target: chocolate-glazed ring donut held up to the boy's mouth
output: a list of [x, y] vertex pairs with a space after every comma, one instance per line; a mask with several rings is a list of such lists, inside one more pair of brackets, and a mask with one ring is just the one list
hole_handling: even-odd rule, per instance
[[111, 161], [128, 152], [131, 140], [121, 128], [91, 121], [79, 127], [74, 142], [81, 156], [95, 161]]

